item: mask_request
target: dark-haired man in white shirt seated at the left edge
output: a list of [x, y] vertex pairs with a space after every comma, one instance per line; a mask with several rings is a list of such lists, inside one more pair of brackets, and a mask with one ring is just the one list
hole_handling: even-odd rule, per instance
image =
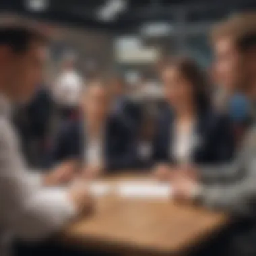
[[[85, 188], [57, 189], [55, 174], [27, 170], [10, 121], [11, 105], [26, 102], [42, 78], [46, 40], [35, 30], [0, 27], [0, 255], [5, 237], [38, 241], [59, 231], [91, 205]], [[57, 180], [56, 180], [57, 181]]]

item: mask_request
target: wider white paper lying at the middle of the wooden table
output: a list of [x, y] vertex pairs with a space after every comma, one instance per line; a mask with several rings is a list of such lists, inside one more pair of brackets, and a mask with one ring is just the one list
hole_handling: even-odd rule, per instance
[[121, 197], [138, 199], [169, 199], [172, 187], [155, 181], [126, 181], [119, 183], [117, 193]]

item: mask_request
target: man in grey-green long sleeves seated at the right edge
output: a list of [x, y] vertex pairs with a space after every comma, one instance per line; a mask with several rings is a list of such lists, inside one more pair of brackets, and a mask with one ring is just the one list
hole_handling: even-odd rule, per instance
[[[256, 101], [255, 24], [256, 13], [241, 13], [217, 24], [211, 35], [218, 77], [222, 84], [234, 86], [251, 106]], [[256, 255], [255, 125], [254, 117], [230, 164], [186, 166], [171, 181], [172, 199], [232, 217], [220, 250], [214, 255]], [[209, 251], [212, 255], [212, 248]]]

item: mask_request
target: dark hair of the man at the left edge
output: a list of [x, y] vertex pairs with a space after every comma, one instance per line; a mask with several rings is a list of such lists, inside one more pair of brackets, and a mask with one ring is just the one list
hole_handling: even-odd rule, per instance
[[9, 46], [14, 53], [24, 53], [32, 42], [46, 44], [47, 39], [36, 28], [19, 25], [0, 26], [0, 46]]

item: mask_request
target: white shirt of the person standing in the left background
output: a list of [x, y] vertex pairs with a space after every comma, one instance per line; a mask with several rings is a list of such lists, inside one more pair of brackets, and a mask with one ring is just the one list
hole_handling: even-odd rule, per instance
[[73, 69], [63, 71], [57, 78], [54, 96], [60, 106], [75, 107], [79, 104], [79, 98], [83, 88], [82, 77]]

